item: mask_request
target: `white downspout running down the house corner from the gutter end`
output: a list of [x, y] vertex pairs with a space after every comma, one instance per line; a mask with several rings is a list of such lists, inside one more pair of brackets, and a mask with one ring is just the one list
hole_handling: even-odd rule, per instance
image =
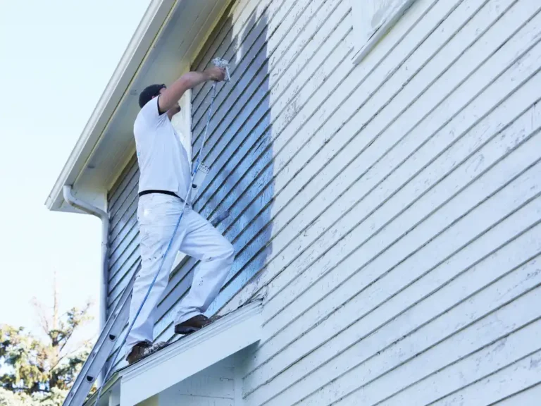
[[[104, 329], [107, 321], [107, 282], [108, 282], [108, 245], [109, 245], [109, 216], [108, 214], [82, 200], [77, 199], [71, 192], [70, 185], [63, 187], [64, 200], [76, 209], [101, 219], [101, 270], [100, 270], [100, 297], [99, 297], [99, 331]], [[103, 371], [101, 372], [103, 375]], [[103, 378], [103, 377], [102, 377]]]

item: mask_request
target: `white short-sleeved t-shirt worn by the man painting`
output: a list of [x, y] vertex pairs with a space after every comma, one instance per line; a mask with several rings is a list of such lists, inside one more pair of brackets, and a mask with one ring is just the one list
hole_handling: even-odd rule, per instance
[[184, 199], [191, 178], [188, 154], [167, 113], [159, 113], [158, 97], [139, 111], [133, 133], [139, 161], [139, 192], [167, 190]]

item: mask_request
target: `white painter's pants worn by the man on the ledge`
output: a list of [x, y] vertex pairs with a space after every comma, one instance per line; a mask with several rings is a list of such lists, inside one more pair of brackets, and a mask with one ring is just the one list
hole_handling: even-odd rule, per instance
[[[130, 323], [160, 267], [180, 211], [182, 211], [182, 202], [178, 197], [150, 194], [139, 198], [137, 221], [139, 222], [142, 264], [133, 286]], [[156, 283], [126, 341], [128, 352], [139, 342], [153, 340], [154, 309], [166, 289], [169, 273], [178, 251], [201, 262], [194, 271], [192, 288], [180, 303], [175, 324], [206, 311], [225, 283], [235, 256], [231, 243], [209, 221], [186, 206]]]

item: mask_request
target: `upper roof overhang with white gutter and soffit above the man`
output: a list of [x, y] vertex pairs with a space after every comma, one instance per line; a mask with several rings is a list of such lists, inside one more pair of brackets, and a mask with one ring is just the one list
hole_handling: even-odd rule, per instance
[[74, 211], [63, 199], [105, 209], [106, 192], [135, 153], [132, 125], [139, 92], [173, 82], [197, 55], [229, 0], [151, 0], [104, 93], [46, 199], [46, 207]]

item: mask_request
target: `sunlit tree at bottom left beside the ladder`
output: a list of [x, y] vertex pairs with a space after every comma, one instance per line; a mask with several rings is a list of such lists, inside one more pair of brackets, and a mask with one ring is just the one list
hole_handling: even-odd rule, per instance
[[60, 315], [56, 278], [52, 311], [33, 302], [44, 339], [23, 327], [0, 325], [0, 406], [61, 405], [91, 349], [88, 340], [73, 342], [74, 333], [92, 319], [90, 302]]

